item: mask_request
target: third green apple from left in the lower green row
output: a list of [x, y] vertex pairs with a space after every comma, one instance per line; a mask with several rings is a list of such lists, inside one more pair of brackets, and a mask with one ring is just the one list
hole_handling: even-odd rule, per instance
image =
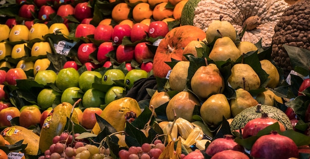
[[94, 88], [87, 90], [82, 98], [83, 107], [100, 107], [104, 104], [105, 93]]

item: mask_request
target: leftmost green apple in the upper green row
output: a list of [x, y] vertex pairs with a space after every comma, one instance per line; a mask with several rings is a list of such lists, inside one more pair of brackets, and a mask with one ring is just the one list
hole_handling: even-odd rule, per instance
[[56, 77], [57, 74], [53, 70], [42, 70], [37, 72], [34, 81], [46, 85], [48, 83], [55, 83]]

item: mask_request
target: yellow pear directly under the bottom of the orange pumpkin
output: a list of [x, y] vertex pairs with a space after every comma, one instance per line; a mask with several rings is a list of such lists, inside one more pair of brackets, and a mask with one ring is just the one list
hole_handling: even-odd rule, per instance
[[189, 66], [189, 61], [179, 61], [174, 65], [169, 76], [169, 84], [172, 90], [181, 92], [185, 89]]

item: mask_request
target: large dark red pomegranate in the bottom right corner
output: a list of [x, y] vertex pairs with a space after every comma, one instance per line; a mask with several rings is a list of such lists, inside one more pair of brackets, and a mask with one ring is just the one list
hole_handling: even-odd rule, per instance
[[299, 158], [298, 147], [294, 141], [277, 131], [259, 137], [253, 144], [250, 155], [258, 159]]

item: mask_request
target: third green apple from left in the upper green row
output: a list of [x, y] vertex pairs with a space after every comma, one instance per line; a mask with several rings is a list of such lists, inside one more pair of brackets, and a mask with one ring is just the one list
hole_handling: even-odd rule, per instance
[[95, 83], [96, 78], [101, 81], [102, 74], [97, 71], [84, 71], [79, 77], [79, 87], [83, 92], [92, 88], [93, 83]]

